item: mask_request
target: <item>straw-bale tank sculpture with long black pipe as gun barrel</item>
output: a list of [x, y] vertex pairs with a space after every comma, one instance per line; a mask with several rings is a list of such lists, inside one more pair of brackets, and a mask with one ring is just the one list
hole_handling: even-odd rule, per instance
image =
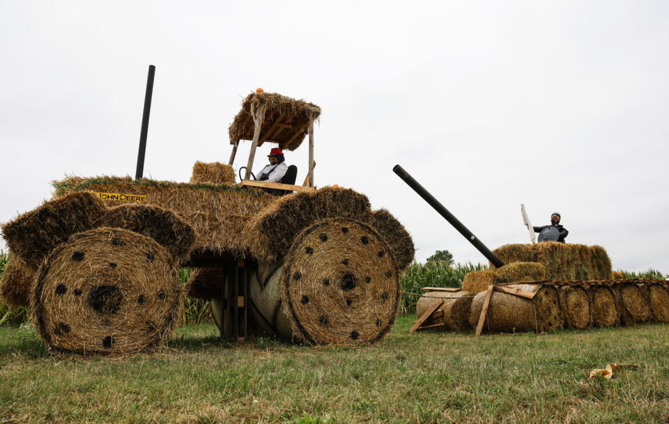
[[549, 331], [669, 322], [669, 281], [624, 279], [601, 246], [542, 242], [490, 251], [401, 166], [411, 188], [489, 261], [467, 274], [462, 288], [424, 288], [416, 329]]

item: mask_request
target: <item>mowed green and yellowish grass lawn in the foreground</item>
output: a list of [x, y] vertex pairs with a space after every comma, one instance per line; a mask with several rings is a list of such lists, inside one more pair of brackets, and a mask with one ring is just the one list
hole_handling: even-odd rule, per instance
[[[0, 328], [0, 423], [669, 423], [667, 324], [475, 338], [412, 320], [357, 348], [227, 345], [201, 324], [125, 359]], [[607, 363], [639, 367], [587, 377]]]

